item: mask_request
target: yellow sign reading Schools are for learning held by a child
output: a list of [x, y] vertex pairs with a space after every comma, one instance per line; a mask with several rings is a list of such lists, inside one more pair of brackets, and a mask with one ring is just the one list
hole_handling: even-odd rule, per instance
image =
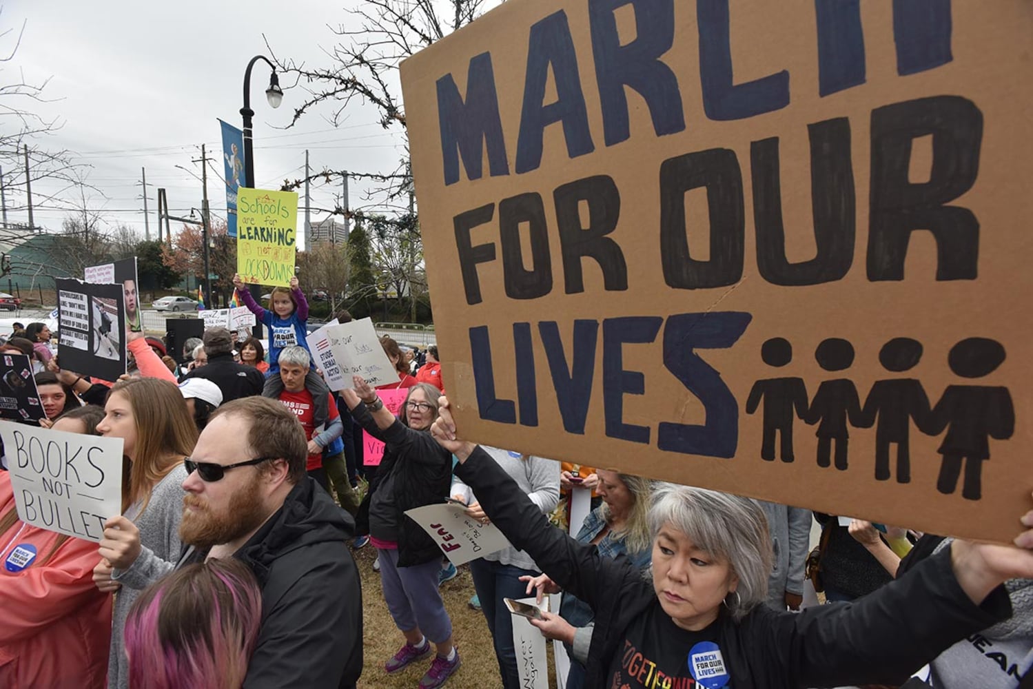
[[286, 287], [298, 253], [298, 194], [237, 190], [237, 272], [244, 282]]

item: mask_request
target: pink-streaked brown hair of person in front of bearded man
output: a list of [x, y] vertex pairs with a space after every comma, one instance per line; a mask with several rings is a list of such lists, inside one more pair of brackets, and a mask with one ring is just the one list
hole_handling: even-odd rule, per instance
[[239, 560], [188, 565], [133, 601], [129, 686], [240, 689], [261, 624], [261, 592]]

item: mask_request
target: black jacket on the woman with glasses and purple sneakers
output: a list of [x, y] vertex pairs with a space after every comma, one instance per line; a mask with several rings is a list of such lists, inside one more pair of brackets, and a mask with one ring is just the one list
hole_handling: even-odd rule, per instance
[[384, 456], [377, 475], [358, 506], [355, 523], [359, 533], [370, 532], [370, 500], [377, 488], [398, 465], [395, 476], [395, 505], [398, 523], [402, 525], [398, 541], [398, 566], [412, 567], [441, 558], [442, 552], [434, 539], [418, 524], [405, 515], [405, 510], [442, 502], [451, 488], [451, 452], [442, 449], [427, 431], [414, 431], [402, 421], [385, 431], [377, 428], [365, 404], [351, 410], [352, 416], [371, 436], [384, 442]]

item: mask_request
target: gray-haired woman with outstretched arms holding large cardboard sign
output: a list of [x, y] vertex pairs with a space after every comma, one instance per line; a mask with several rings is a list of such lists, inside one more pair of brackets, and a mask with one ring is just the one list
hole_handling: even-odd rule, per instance
[[1031, 510], [1018, 547], [958, 540], [852, 604], [774, 610], [759, 604], [772, 547], [755, 501], [658, 490], [647, 580], [627, 559], [552, 527], [491, 457], [458, 436], [444, 398], [432, 434], [513, 546], [595, 610], [587, 687], [900, 684], [942, 649], [1010, 617], [1001, 584], [1033, 576]]

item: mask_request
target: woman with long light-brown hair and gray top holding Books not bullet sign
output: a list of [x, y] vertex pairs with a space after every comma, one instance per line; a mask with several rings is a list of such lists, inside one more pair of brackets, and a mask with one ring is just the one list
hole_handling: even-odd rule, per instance
[[116, 591], [107, 686], [127, 689], [128, 661], [122, 629], [139, 593], [167, 574], [180, 556], [183, 515], [183, 460], [197, 442], [179, 388], [157, 378], [130, 378], [112, 386], [100, 435], [122, 438], [122, 515], [104, 524], [100, 562], [93, 581]]

